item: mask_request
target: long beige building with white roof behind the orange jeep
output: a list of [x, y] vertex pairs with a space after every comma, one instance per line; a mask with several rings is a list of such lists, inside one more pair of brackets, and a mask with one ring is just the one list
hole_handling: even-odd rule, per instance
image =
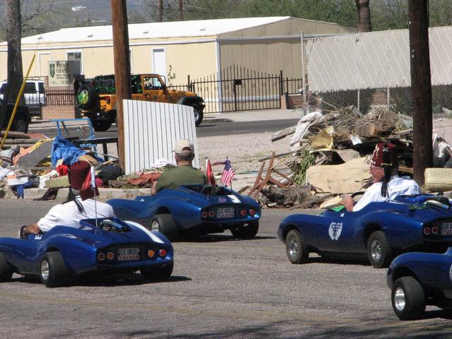
[[[129, 25], [132, 73], [170, 75], [172, 84], [218, 74], [237, 65], [252, 71], [301, 76], [304, 37], [356, 32], [355, 28], [291, 17], [194, 20]], [[48, 75], [48, 61], [75, 60], [86, 78], [114, 72], [112, 26], [63, 28], [22, 39], [24, 73]], [[0, 79], [7, 46], [0, 43]]]

